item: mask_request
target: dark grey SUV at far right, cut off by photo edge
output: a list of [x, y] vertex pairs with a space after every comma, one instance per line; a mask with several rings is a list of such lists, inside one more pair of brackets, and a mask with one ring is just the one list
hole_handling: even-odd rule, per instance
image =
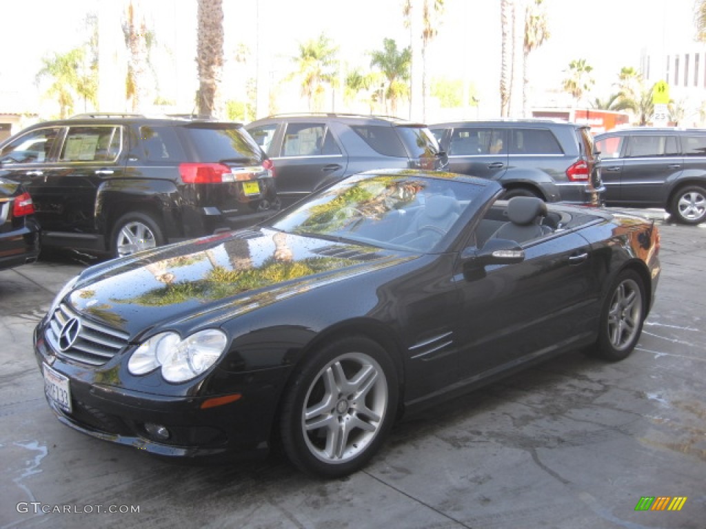
[[706, 130], [626, 128], [596, 136], [606, 205], [663, 207], [684, 224], [706, 220]]

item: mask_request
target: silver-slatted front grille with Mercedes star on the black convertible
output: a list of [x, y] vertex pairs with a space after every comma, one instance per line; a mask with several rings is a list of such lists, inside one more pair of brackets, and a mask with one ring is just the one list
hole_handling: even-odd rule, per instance
[[[78, 325], [66, 326], [71, 320], [76, 320]], [[61, 336], [61, 330], [67, 327], [75, 331]], [[90, 365], [106, 363], [128, 344], [129, 338], [128, 333], [92, 322], [64, 303], [56, 309], [47, 328], [47, 341], [57, 355]]]

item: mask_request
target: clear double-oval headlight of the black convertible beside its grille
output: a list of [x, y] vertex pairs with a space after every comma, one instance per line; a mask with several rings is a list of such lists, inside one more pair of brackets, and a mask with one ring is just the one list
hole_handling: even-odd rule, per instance
[[185, 382], [215, 364], [226, 342], [225, 333], [218, 329], [195, 332], [183, 340], [174, 332], [155, 334], [132, 353], [128, 371], [144, 375], [161, 367], [167, 382]]

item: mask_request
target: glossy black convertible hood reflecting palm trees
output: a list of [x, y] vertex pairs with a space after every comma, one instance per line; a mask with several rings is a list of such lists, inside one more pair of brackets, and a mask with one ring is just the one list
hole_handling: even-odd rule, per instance
[[270, 229], [241, 230], [86, 269], [69, 303], [136, 336], [157, 326], [219, 324], [415, 257]]

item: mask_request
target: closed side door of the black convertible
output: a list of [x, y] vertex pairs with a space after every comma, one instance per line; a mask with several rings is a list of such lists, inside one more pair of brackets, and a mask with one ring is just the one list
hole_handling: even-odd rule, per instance
[[459, 377], [465, 382], [570, 346], [594, 332], [586, 308], [597, 296], [590, 245], [574, 231], [525, 245], [522, 262], [455, 269], [462, 291]]

